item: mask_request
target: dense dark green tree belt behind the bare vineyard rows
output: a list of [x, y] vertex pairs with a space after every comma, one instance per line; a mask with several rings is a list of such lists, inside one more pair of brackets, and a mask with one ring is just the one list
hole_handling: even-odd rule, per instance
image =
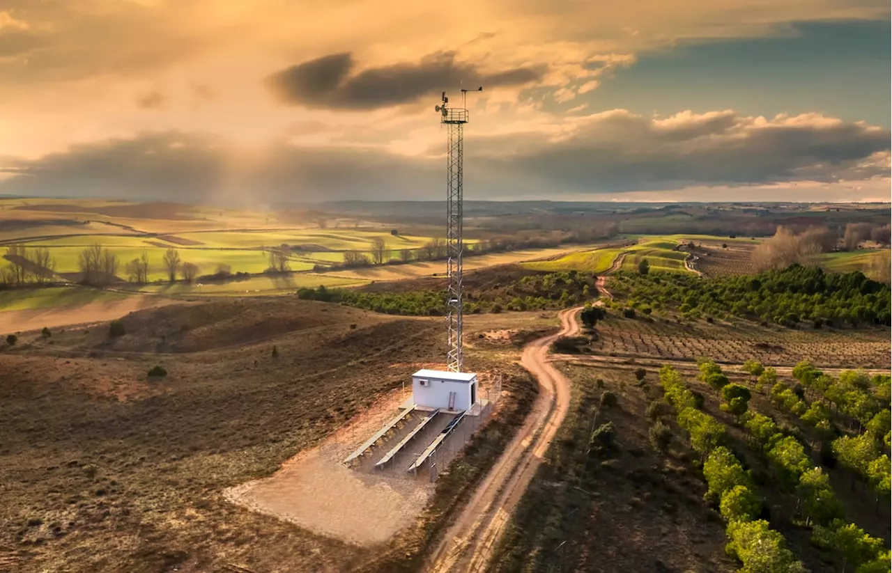
[[671, 308], [686, 318], [755, 319], [795, 327], [892, 325], [892, 287], [860, 272], [824, 273], [792, 265], [756, 275], [700, 278], [693, 274], [615, 276], [615, 291], [626, 305]]

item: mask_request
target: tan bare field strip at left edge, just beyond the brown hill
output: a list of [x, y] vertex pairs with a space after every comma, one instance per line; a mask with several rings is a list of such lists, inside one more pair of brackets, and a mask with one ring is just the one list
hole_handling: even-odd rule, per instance
[[161, 297], [133, 297], [113, 302], [91, 302], [78, 307], [48, 307], [0, 312], [0, 332], [28, 332], [44, 327], [83, 323], [104, 323], [144, 308], [183, 304], [184, 301]]

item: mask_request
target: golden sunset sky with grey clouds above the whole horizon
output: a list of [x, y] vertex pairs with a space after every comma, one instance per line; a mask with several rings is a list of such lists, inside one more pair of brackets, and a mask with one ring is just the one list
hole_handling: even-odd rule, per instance
[[889, 0], [0, 0], [0, 193], [892, 201]]

